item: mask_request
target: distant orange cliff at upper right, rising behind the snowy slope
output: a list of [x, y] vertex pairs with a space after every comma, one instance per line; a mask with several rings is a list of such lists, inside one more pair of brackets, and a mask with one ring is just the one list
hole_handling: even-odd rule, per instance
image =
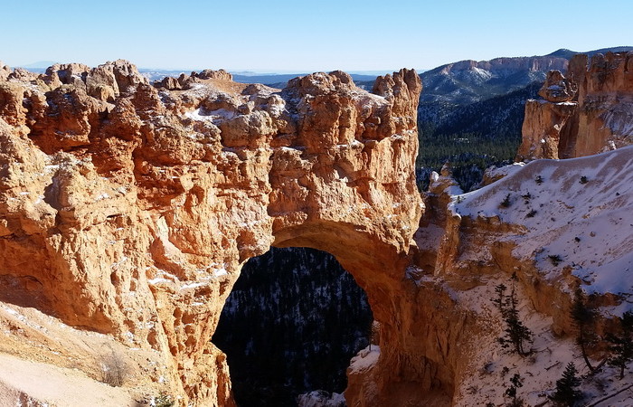
[[633, 52], [572, 58], [525, 105], [517, 160], [572, 158], [633, 143]]

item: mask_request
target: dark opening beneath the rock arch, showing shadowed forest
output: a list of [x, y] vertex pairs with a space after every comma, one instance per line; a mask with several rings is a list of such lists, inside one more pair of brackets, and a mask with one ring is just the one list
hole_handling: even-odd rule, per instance
[[292, 406], [302, 393], [345, 390], [372, 321], [364, 290], [334, 256], [270, 248], [243, 266], [213, 343], [227, 355], [238, 405]]

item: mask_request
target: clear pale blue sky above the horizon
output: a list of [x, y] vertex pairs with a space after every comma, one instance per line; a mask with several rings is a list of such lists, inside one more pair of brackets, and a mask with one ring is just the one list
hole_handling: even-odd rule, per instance
[[630, 0], [35, 0], [0, 15], [10, 66], [386, 71], [633, 45]]

